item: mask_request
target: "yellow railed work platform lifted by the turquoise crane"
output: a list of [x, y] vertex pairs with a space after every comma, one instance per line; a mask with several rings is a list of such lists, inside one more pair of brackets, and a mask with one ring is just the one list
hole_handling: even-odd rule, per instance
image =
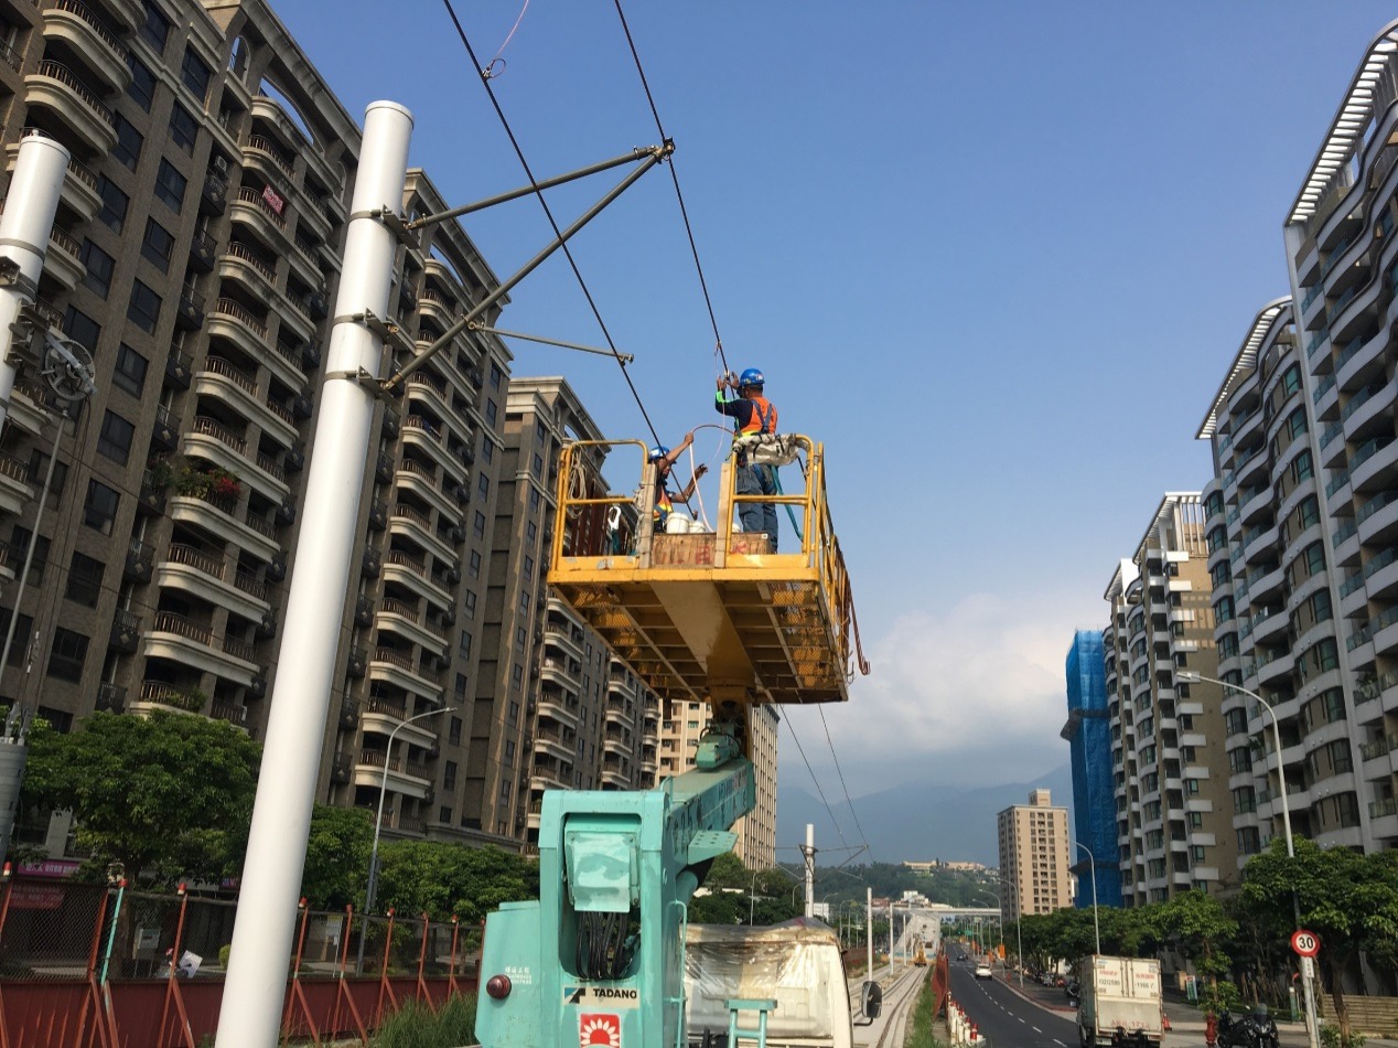
[[[730, 456], [713, 530], [691, 523], [682, 533], [654, 529], [656, 466], [639, 441], [563, 449], [549, 586], [661, 698], [843, 702], [856, 669], [868, 673], [826, 502], [823, 448], [805, 437], [784, 439], [804, 459], [804, 490], [738, 495]], [[604, 466], [639, 477], [639, 490], [610, 491]], [[797, 466], [786, 474], [795, 480]], [[765, 534], [734, 530], [742, 502], [777, 504], [781, 553], [769, 551]]]

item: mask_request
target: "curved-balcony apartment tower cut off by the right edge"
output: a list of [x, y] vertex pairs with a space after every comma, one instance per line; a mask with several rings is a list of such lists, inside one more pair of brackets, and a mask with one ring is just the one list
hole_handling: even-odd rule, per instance
[[[1370, 42], [1283, 224], [1296, 341], [1304, 346], [1288, 410], [1307, 421], [1318, 521], [1304, 541], [1299, 521], [1279, 541], [1292, 562], [1324, 555], [1325, 578], [1311, 586], [1329, 590], [1331, 621], [1295, 638], [1295, 700], [1276, 712], [1288, 791], [1297, 788], [1293, 830], [1366, 851], [1398, 845], [1395, 41], [1398, 22]], [[1279, 527], [1292, 519], [1282, 509]], [[1293, 574], [1288, 610], [1300, 630], [1306, 620], [1293, 600], [1320, 597], [1300, 564]], [[1281, 681], [1276, 690], [1286, 693]]]

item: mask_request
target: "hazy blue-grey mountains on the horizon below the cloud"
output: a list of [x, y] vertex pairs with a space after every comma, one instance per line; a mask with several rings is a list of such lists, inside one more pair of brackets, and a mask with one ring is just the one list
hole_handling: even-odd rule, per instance
[[[805, 789], [777, 786], [777, 862], [800, 861], [805, 826], [815, 826], [816, 865], [837, 866], [853, 849], [868, 842], [872, 862], [979, 862], [1000, 863], [995, 816], [1023, 805], [1029, 791], [1051, 791], [1055, 807], [1068, 809], [1072, 826], [1072, 772], [1067, 764], [1030, 782], [987, 786], [980, 782], [946, 784], [910, 781], [867, 793], [850, 805], [840, 795], [835, 802], [829, 784], [822, 784], [825, 803]], [[832, 821], [833, 814], [833, 821]], [[867, 855], [854, 859], [868, 863]]]

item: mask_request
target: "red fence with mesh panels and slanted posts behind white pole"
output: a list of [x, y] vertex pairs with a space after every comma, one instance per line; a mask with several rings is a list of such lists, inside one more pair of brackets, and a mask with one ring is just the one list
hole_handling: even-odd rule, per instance
[[[233, 902], [14, 877], [0, 898], [0, 1048], [197, 1048], [218, 1026]], [[356, 1037], [475, 991], [480, 930], [301, 909], [282, 1035]]]

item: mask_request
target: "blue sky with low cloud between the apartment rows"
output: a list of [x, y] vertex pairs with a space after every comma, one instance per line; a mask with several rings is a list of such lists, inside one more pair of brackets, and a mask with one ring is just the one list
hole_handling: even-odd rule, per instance
[[[457, 0], [482, 62], [524, 0]], [[343, 99], [415, 118], [449, 200], [524, 183], [438, 0], [275, 0]], [[1162, 493], [1211, 476], [1199, 421], [1286, 292], [1282, 220], [1390, 3], [630, 0], [728, 361], [825, 442], [874, 676], [793, 711], [826, 793], [1023, 781], [1068, 758], [1064, 658]], [[657, 141], [607, 0], [533, 0], [492, 80], [535, 175]], [[566, 222], [619, 174], [551, 194]], [[466, 228], [506, 276], [537, 203]], [[668, 172], [575, 250], [667, 442], [714, 421], [713, 334]], [[561, 257], [503, 326], [597, 344]], [[614, 364], [516, 344], [611, 437]], [[719, 435], [698, 442], [713, 460]], [[712, 502], [710, 502], [712, 504]], [[811, 789], [783, 737], [781, 779]]]

